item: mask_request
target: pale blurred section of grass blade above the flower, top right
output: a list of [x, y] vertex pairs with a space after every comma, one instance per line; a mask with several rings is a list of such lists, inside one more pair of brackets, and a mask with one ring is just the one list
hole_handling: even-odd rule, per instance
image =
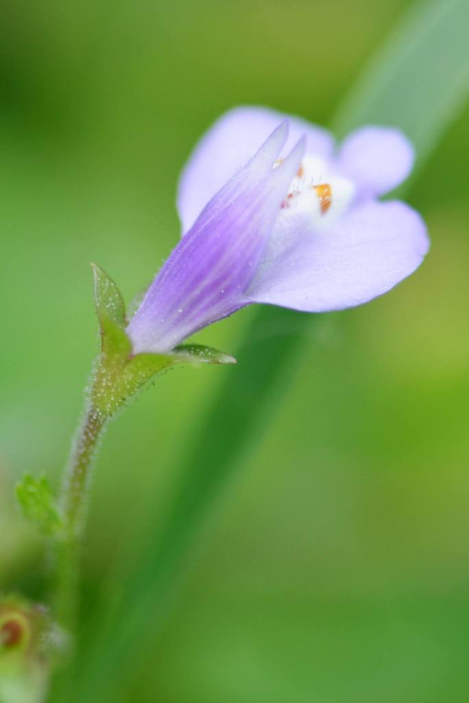
[[400, 127], [422, 167], [468, 98], [468, 27], [467, 0], [418, 2], [352, 86], [336, 133], [366, 122]]

